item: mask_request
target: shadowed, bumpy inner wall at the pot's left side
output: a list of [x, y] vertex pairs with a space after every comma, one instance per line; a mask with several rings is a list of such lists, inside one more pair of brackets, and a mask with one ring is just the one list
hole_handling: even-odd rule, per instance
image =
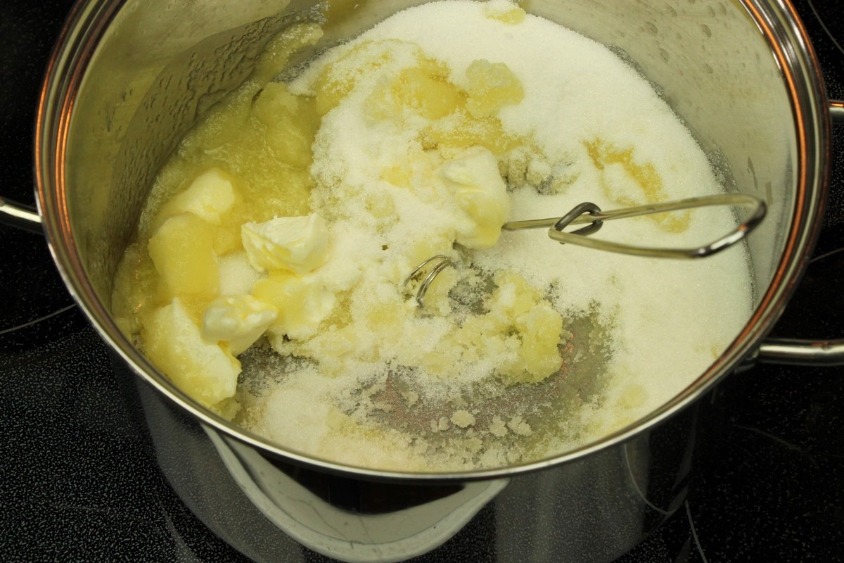
[[68, 142], [68, 162], [80, 163], [68, 166], [68, 182], [89, 188], [69, 202], [79, 219], [73, 228], [106, 303], [161, 163], [197, 116], [248, 76], [268, 37], [289, 24], [287, 3], [242, 10], [222, 1], [143, 2], [116, 14], [91, 62], [96, 72], [79, 86], [85, 95]]

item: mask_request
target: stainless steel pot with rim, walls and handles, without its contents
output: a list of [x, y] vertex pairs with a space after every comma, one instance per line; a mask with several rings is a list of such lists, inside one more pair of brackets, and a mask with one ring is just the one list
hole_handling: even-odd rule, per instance
[[[418, 3], [331, 0], [333, 19], [315, 49]], [[720, 377], [756, 359], [844, 361], [842, 341], [764, 339], [820, 229], [830, 115], [844, 114], [844, 106], [826, 100], [793, 8], [785, 0], [525, 0], [529, 12], [636, 62], [733, 189], [766, 200], [768, 219], [749, 241], [757, 306], [733, 344], [636, 424], [557, 457], [473, 473], [344, 467], [285, 451], [203, 409], [118, 330], [110, 315], [112, 276], [176, 140], [246, 77], [271, 35], [318, 18], [319, 5], [78, 3], [39, 108], [40, 215], [0, 200], [7, 219], [42, 222], [68, 288], [139, 398], [170, 483], [235, 547], [257, 560], [306, 560], [313, 549], [341, 560], [387, 561], [442, 545], [435, 553], [459, 560], [461, 549], [484, 539], [499, 560], [611, 560], [682, 501], [695, 420], [686, 408]]]

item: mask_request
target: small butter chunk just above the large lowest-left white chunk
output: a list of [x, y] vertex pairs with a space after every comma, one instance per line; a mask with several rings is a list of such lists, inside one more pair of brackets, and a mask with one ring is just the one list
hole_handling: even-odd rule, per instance
[[203, 312], [202, 336], [206, 342], [226, 342], [239, 355], [255, 344], [275, 322], [279, 311], [252, 295], [228, 295], [208, 304]]

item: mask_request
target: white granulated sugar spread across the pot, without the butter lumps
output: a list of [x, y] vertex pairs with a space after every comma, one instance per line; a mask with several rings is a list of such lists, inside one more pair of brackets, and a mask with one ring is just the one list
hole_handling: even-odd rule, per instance
[[[341, 284], [350, 291], [349, 314], [362, 319], [383, 310], [403, 323], [390, 325], [396, 333], [359, 323], [351, 343], [343, 339], [349, 334], [329, 328], [311, 344], [291, 346], [323, 367], [338, 348], [352, 349], [334, 380], [309, 367], [263, 392], [260, 414], [247, 419], [253, 430], [355, 465], [441, 470], [517, 463], [597, 438], [656, 408], [704, 371], [742, 327], [750, 295], [740, 249], [673, 262], [560, 246], [539, 230], [507, 232], [493, 246], [459, 256], [452, 251], [467, 219], [438, 190], [436, 171], [459, 156], [460, 143], [447, 133], [439, 143], [426, 138], [434, 120], [420, 115], [425, 106], [397, 109], [387, 96], [373, 110], [379, 89], [418, 68], [420, 59], [440, 65], [441, 80], [465, 91], [476, 61], [504, 63], [521, 84], [522, 99], [495, 114], [500, 133], [517, 140], [490, 147], [509, 180], [509, 219], [561, 215], [583, 201], [609, 209], [721, 191], [701, 149], [647, 81], [605, 47], [544, 19], [520, 18], [514, 8], [495, 0], [409, 9], [328, 51], [289, 84], [298, 95], [320, 95], [332, 80], [343, 90], [317, 133], [311, 207], [334, 219], [338, 244], [354, 240], [354, 251], [345, 245], [342, 266], [358, 268], [354, 282], [347, 276]], [[509, 13], [518, 23], [490, 17]], [[446, 130], [465, 124], [459, 115], [438, 119]], [[392, 182], [407, 186], [385, 181], [392, 178], [385, 171], [397, 166], [401, 180]], [[733, 224], [728, 211], [709, 209], [620, 221], [602, 235], [695, 246]], [[414, 252], [419, 247], [427, 254]], [[426, 373], [425, 351], [435, 350], [453, 332], [454, 316], [465, 313], [408, 311], [413, 303], [399, 291], [414, 261], [438, 252], [459, 258], [461, 271], [451, 273], [457, 278], [511, 271], [553, 303], [565, 330], [579, 333], [568, 348], [565, 338], [560, 344], [559, 374], [517, 384], [521, 389], [501, 384], [495, 373], [512, 360], [506, 349], [473, 361], [449, 358], [455, 365], [447, 376]]]

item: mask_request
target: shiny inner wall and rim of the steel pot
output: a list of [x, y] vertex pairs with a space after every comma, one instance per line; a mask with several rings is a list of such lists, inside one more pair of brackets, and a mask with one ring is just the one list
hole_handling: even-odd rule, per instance
[[[354, 19], [329, 26], [317, 48], [337, 41], [339, 29], [343, 35], [354, 35], [399, 5], [411, 4], [361, 3]], [[195, 121], [203, 105], [219, 99], [248, 72], [269, 35], [295, 19], [313, 17], [309, 3], [273, 8], [276, 12], [267, 3], [244, 3], [236, 20], [244, 23], [235, 26], [224, 8], [208, 9], [203, 18], [192, 20], [185, 35], [185, 30], [173, 29], [187, 25], [172, 23], [185, 20], [178, 6], [80, 5], [48, 76], [37, 170], [42, 212], [57, 263], [104, 338], [192, 414], [248, 443], [282, 453], [185, 397], [122, 337], [108, 312], [116, 259], [173, 139]], [[281, 8], [284, 14], [269, 15]], [[526, 8], [635, 61], [662, 89], [712, 160], [728, 173], [733, 187], [764, 198], [771, 215], [749, 243], [760, 306], [711, 370], [641, 425], [602, 444], [498, 474], [541, 468], [619, 443], [689, 403], [749, 354], [785, 305], [814, 241], [829, 141], [820, 76], [787, 7], [713, 1], [530, 2]], [[141, 22], [143, 33], [138, 32]], [[238, 53], [239, 64], [234, 67], [218, 56], [230, 51]], [[98, 157], [85, 157], [90, 154]]]

